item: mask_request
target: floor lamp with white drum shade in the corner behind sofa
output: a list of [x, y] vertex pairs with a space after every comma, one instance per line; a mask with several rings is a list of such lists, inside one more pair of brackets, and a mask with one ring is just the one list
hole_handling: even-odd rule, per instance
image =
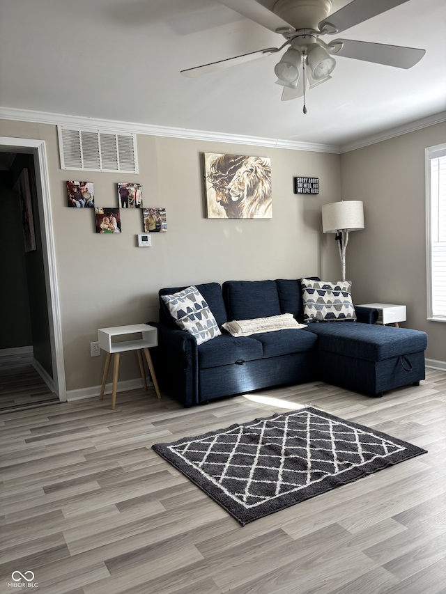
[[364, 208], [359, 200], [347, 200], [324, 204], [322, 207], [323, 233], [336, 233], [341, 257], [342, 279], [346, 279], [346, 249], [348, 232], [364, 228]]

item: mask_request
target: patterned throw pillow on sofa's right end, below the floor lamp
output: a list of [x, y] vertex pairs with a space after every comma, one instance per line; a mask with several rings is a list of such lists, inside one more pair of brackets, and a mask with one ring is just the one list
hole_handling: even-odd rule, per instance
[[302, 279], [304, 322], [355, 322], [351, 281], [328, 283]]

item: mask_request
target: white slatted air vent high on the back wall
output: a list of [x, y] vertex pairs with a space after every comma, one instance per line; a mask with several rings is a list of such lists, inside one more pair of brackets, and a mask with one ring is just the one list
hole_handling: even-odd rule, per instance
[[61, 169], [138, 173], [136, 134], [57, 127]]

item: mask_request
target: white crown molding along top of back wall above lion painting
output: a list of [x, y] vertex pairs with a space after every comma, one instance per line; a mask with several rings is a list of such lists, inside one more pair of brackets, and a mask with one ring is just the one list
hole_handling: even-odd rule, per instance
[[74, 126], [77, 128], [94, 128], [95, 130], [112, 130], [113, 132], [148, 134], [149, 136], [169, 136], [171, 138], [189, 140], [217, 141], [231, 144], [267, 146], [270, 148], [286, 148], [289, 150], [309, 150], [315, 153], [339, 154], [339, 146], [332, 146], [329, 144], [294, 142], [281, 139], [261, 138], [260, 136], [241, 136], [238, 134], [224, 134], [223, 132], [203, 132], [202, 130], [188, 130], [187, 128], [171, 128], [133, 122], [66, 116], [63, 114], [50, 114], [46, 111], [15, 109], [14, 107], [0, 107], [0, 119]]

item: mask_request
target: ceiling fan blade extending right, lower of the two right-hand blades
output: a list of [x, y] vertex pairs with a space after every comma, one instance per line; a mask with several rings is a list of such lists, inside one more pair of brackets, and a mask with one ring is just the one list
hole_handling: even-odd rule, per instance
[[[338, 50], [337, 47], [340, 46]], [[354, 58], [364, 62], [385, 64], [395, 68], [412, 68], [426, 54], [425, 49], [402, 47], [401, 45], [385, 45], [351, 39], [336, 39], [329, 45], [330, 54]]]

